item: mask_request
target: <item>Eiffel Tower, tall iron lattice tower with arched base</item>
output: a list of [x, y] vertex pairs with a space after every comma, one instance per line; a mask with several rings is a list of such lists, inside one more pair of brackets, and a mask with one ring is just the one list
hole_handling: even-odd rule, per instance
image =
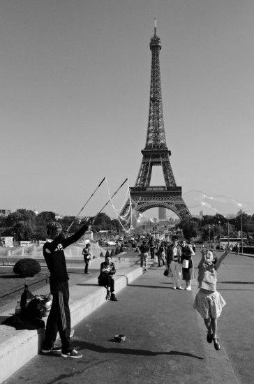
[[[143, 158], [134, 187], [130, 187], [131, 205], [137, 212], [145, 212], [154, 207], [165, 207], [179, 216], [179, 219], [191, 217], [181, 196], [181, 186], [175, 182], [170, 165], [171, 152], [167, 148], [163, 121], [163, 103], [160, 84], [161, 50], [160, 38], [156, 35], [156, 19], [154, 36], [150, 42], [151, 50], [151, 87], [147, 140], [141, 151]], [[165, 186], [150, 186], [153, 166], [163, 168]], [[126, 214], [130, 203], [127, 202], [121, 215]]]

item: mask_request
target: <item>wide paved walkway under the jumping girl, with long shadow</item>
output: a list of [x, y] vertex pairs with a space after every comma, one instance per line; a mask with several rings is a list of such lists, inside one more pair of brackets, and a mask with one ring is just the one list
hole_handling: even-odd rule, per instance
[[[233, 254], [219, 269], [217, 288], [227, 302], [220, 351], [207, 344], [193, 309], [196, 283], [192, 291], [172, 290], [163, 268], [151, 267], [116, 293], [119, 302], [105, 302], [75, 327], [82, 359], [38, 355], [7, 383], [254, 383], [253, 272], [253, 258]], [[116, 334], [126, 341], [115, 343]]]

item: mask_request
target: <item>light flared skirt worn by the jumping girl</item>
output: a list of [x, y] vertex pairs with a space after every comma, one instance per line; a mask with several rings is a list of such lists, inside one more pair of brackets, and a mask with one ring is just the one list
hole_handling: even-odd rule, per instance
[[197, 309], [202, 318], [218, 318], [226, 302], [218, 291], [211, 293], [198, 292], [193, 307]]

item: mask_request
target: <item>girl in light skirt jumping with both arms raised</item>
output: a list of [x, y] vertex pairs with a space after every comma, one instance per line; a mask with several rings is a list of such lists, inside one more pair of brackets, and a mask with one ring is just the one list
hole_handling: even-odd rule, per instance
[[225, 300], [216, 290], [217, 271], [221, 262], [232, 251], [232, 246], [227, 246], [220, 258], [216, 258], [212, 249], [201, 249], [202, 258], [198, 265], [198, 291], [193, 307], [197, 309], [204, 324], [207, 327], [207, 342], [214, 340], [214, 348], [221, 348], [217, 334], [217, 319], [221, 316], [221, 310], [225, 306]]

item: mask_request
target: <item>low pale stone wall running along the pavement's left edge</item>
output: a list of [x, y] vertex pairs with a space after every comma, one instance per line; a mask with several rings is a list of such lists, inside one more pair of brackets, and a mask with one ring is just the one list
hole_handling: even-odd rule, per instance
[[[119, 270], [119, 274], [115, 276], [114, 286], [117, 292], [141, 276], [142, 268], [128, 269], [126, 272], [124, 274], [123, 269]], [[93, 283], [93, 289], [95, 286], [95, 290], [86, 297], [84, 297], [84, 291], [80, 286], [70, 287], [70, 298], [73, 300], [70, 304], [72, 327], [98, 309], [100, 305], [105, 304], [105, 288], [98, 286], [97, 278], [90, 279], [89, 285], [91, 283]], [[86, 284], [84, 283], [82, 286], [85, 288]], [[4, 316], [4, 314], [1, 313], [0, 316]], [[15, 330], [13, 327], [0, 325], [0, 366], [5, 367], [5, 369], [0, 370], [0, 383], [40, 353], [44, 334], [45, 329], [42, 328], [39, 330]]]

